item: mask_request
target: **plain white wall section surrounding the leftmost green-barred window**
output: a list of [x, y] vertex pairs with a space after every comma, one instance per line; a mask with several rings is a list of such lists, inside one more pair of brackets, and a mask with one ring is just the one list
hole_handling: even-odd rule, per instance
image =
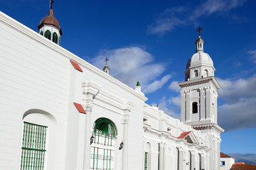
[[[18, 169], [23, 118], [31, 109], [48, 113], [56, 120], [55, 140], [49, 140], [48, 146], [55, 148], [58, 157], [47, 157], [46, 166], [65, 169], [70, 62], [0, 21], [0, 169]], [[29, 116], [33, 117], [33, 113]], [[40, 119], [34, 116], [30, 121], [37, 123]]]

